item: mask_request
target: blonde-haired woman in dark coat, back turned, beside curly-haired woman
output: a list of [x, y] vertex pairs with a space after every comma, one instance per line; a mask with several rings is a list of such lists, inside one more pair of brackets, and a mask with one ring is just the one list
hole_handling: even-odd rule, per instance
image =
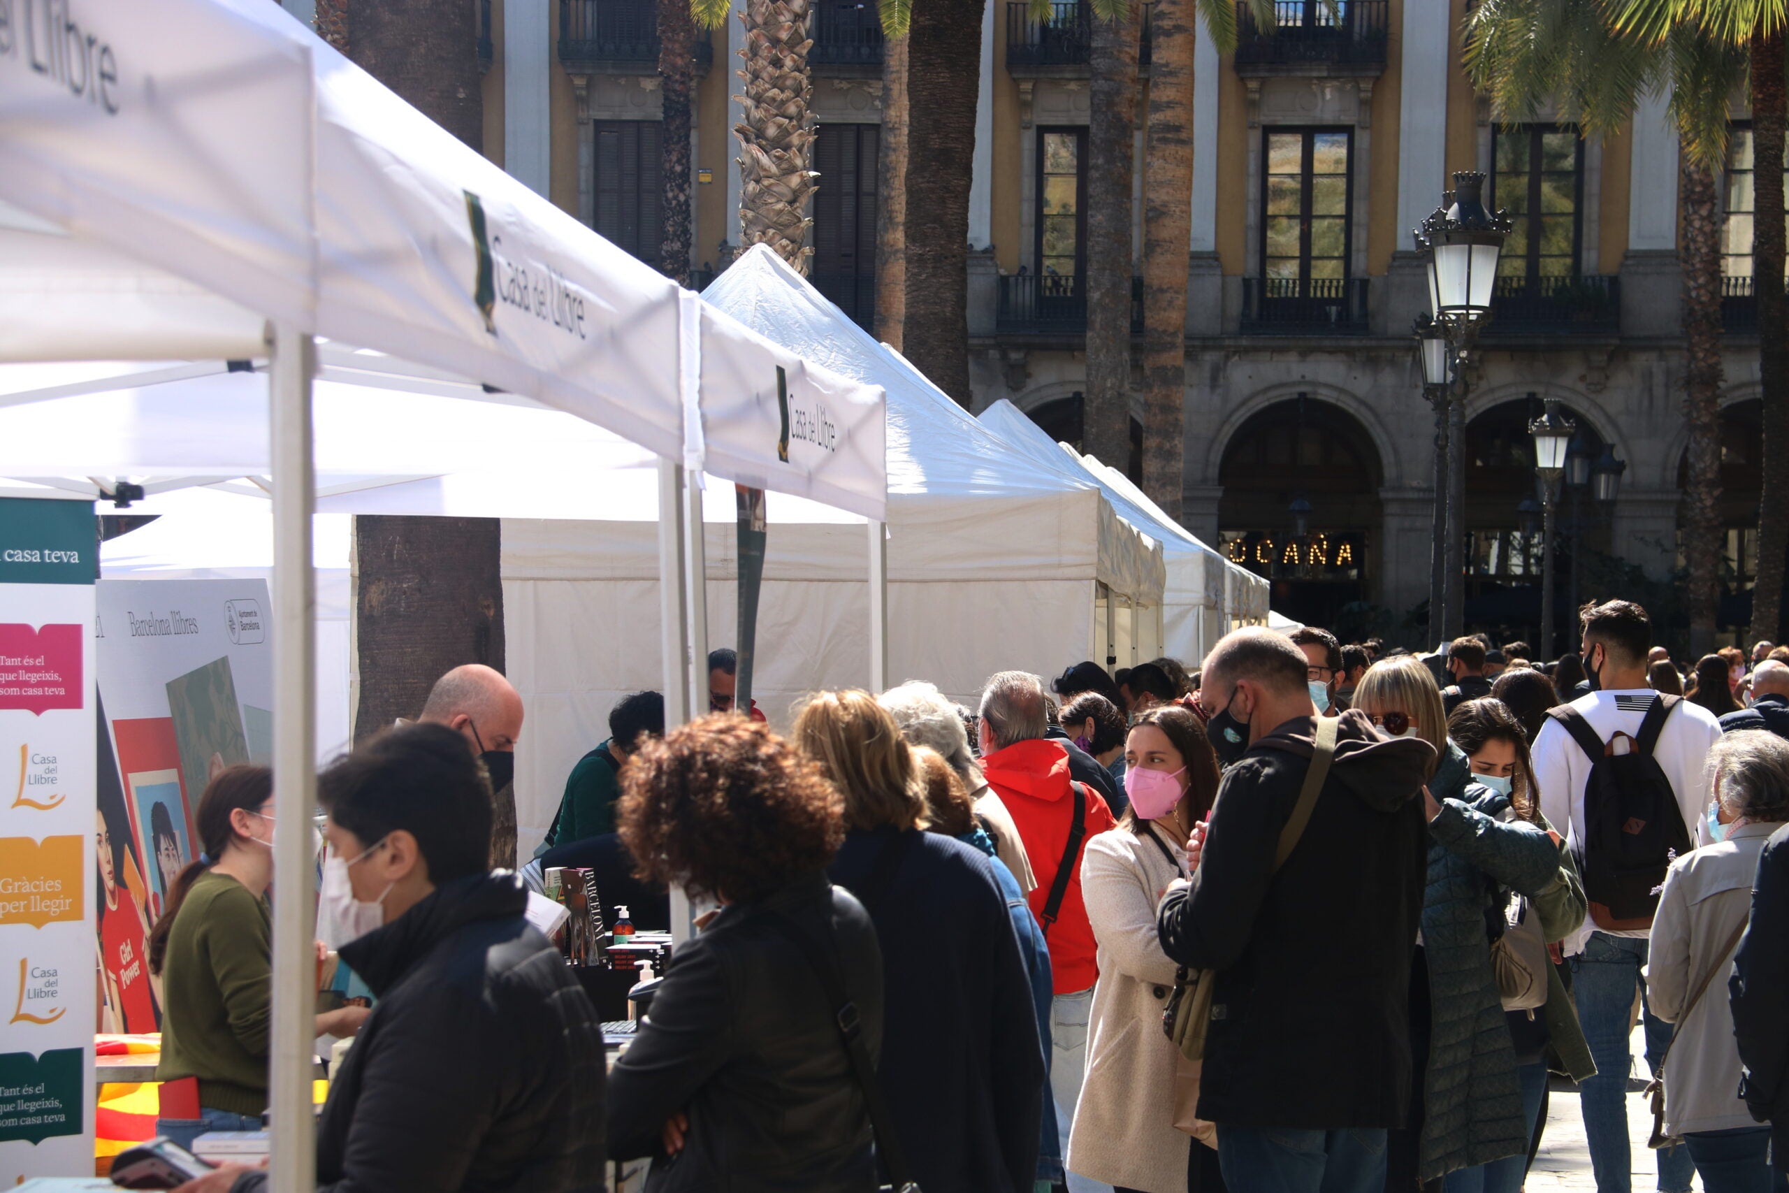
[[993, 867], [921, 832], [923, 771], [869, 692], [819, 692], [794, 740], [844, 798], [844, 846], [828, 873], [862, 901], [882, 944], [877, 1079], [912, 1180], [927, 1193], [1027, 1193], [1047, 1077]]

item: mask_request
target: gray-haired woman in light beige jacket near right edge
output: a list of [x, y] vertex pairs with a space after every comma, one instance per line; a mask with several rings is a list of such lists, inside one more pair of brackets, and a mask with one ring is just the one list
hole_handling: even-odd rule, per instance
[[1768, 1193], [1769, 1127], [1739, 1098], [1739, 1048], [1726, 978], [1751, 914], [1764, 841], [1789, 821], [1789, 742], [1728, 733], [1708, 751], [1707, 844], [1671, 864], [1653, 919], [1646, 998], [1676, 1025], [1664, 1059], [1664, 1130], [1689, 1145], [1708, 1193]]

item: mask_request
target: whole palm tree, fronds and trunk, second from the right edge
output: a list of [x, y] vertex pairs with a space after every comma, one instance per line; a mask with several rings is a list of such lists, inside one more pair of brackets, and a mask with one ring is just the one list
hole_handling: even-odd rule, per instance
[[1499, 118], [1531, 118], [1553, 100], [1560, 120], [1592, 134], [1615, 132], [1642, 95], [1671, 88], [1689, 427], [1680, 520], [1691, 653], [1700, 655], [1714, 646], [1721, 562], [1721, 225], [1714, 179], [1726, 165], [1726, 98], [1744, 79], [1746, 55], [1689, 23], [1644, 36], [1633, 23], [1619, 23], [1626, 2], [1485, 0], [1467, 23], [1465, 63]]

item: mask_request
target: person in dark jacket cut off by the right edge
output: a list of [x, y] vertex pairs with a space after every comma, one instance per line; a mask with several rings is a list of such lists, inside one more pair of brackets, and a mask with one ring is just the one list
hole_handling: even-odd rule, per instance
[[1726, 991], [1746, 1066], [1739, 1093], [1751, 1118], [1771, 1125], [1771, 1157], [1782, 1180], [1789, 1173], [1789, 828], [1771, 833], [1759, 857], [1751, 923], [1734, 953]]

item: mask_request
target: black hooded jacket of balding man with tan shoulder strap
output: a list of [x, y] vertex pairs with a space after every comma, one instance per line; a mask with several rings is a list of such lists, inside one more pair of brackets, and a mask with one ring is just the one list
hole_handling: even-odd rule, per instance
[[1168, 957], [1218, 971], [1199, 1118], [1220, 1129], [1401, 1127], [1410, 1109], [1435, 749], [1344, 712], [1304, 835], [1270, 876], [1313, 732], [1288, 721], [1224, 773], [1193, 882], [1157, 914]]

